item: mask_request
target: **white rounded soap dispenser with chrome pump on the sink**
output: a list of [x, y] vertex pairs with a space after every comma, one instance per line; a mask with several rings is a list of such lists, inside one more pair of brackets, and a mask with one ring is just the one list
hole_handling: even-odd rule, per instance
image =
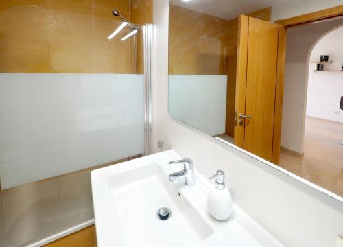
[[217, 173], [210, 177], [215, 178], [215, 187], [209, 191], [207, 197], [207, 210], [216, 220], [227, 220], [233, 211], [233, 200], [230, 191], [225, 187], [225, 173], [217, 170]]

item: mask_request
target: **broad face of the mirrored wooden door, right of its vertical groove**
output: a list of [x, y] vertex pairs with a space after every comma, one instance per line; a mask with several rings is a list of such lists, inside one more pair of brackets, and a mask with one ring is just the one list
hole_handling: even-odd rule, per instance
[[272, 161], [279, 25], [249, 17], [244, 149]]

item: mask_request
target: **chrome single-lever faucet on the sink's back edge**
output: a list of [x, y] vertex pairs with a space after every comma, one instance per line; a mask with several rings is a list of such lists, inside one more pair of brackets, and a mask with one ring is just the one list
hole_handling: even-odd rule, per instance
[[185, 178], [186, 185], [193, 186], [196, 184], [196, 176], [194, 175], [193, 161], [190, 158], [183, 158], [178, 161], [170, 161], [169, 164], [183, 163], [183, 169], [179, 172], [169, 174], [169, 180], [175, 181]]

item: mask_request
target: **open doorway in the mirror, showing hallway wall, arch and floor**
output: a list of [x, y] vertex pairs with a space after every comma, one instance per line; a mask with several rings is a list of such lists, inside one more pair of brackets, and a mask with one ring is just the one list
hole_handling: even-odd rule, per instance
[[[342, 195], [343, 20], [294, 27], [288, 35], [280, 166]], [[320, 55], [329, 60], [320, 62]]]

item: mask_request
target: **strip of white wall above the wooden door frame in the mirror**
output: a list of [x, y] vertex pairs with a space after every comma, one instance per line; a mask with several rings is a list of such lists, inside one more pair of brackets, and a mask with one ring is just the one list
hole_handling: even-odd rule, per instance
[[342, 5], [343, 0], [290, 0], [272, 6], [272, 22]]

